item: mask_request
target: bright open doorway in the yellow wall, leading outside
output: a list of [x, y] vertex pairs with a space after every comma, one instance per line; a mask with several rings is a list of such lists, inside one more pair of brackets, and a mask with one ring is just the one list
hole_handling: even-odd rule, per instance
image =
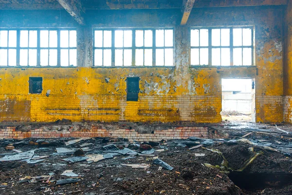
[[256, 122], [255, 80], [222, 78], [222, 120]]

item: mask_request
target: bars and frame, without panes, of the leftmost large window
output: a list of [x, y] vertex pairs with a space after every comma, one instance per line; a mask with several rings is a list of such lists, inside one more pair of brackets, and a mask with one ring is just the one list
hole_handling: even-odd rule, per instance
[[[7, 66], [0, 67], [3, 68], [47, 68], [47, 67], [76, 67], [77, 66], [77, 56], [76, 56], [76, 65], [70, 66], [70, 50], [76, 50], [77, 53], [77, 39], [76, 39], [76, 47], [70, 47], [70, 35], [68, 36], [68, 47], [60, 47], [60, 32], [61, 31], [76, 31], [76, 28], [0, 28], [0, 31], [16, 31], [17, 32], [17, 46], [16, 47], [9, 47], [9, 33], [7, 37], [7, 47], [0, 47], [1, 49], [7, 50]], [[30, 47], [29, 46], [29, 35], [28, 35], [28, 47], [20, 47], [20, 31], [37, 31], [37, 47]], [[40, 47], [40, 31], [57, 31], [57, 47]], [[77, 34], [77, 31], [76, 31]], [[48, 35], [48, 42], [50, 42], [50, 35]], [[49, 44], [49, 43], [48, 43]], [[10, 66], [9, 65], [9, 49], [16, 49], [16, 66]], [[37, 66], [30, 66], [29, 62], [27, 66], [20, 66], [20, 50], [30, 50], [30, 49], [36, 49], [37, 50]], [[40, 66], [40, 51], [41, 50], [50, 50], [55, 49], [57, 50], [57, 64], [56, 66], [50, 66], [49, 65], [49, 51], [48, 51], [48, 65], [47, 66]], [[61, 66], [61, 50], [68, 50], [68, 66]], [[29, 61], [29, 55], [28, 55], [28, 61]]]

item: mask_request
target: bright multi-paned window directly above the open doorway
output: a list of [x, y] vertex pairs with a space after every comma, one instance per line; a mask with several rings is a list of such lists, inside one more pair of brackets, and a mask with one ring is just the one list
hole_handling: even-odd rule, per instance
[[253, 29], [191, 29], [191, 65], [252, 66]]

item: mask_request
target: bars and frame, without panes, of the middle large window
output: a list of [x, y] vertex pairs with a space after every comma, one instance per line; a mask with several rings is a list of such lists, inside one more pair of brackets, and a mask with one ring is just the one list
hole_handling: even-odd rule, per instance
[[[123, 66], [115, 66], [115, 50], [116, 49], [124, 49], [123, 48], [118, 48], [115, 47], [114, 42], [115, 42], [115, 31], [117, 30], [123, 30], [123, 31], [132, 31], [132, 47], [128, 47], [126, 49], [131, 49], [132, 50], [132, 63], [131, 66], [124, 66], [124, 62], [123, 62]], [[152, 31], [152, 47], [145, 47], [145, 44], [143, 47], [136, 47], [136, 30], [143, 30], [143, 35], [145, 35], [145, 31], [146, 30], [151, 30]], [[164, 40], [165, 40], [165, 30], [172, 30], [172, 47], [170, 46], [165, 46], [165, 41], [164, 41], [164, 46], [163, 47], [158, 47], [156, 46], [156, 30], [164, 30]], [[95, 31], [102, 31], [104, 33], [104, 31], [110, 31], [111, 32], [111, 47], [104, 47], [104, 45], [102, 47], [97, 47], [95, 46]], [[104, 35], [104, 34], [102, 34]], [[145, 36], [143, 36], [145, 39]], [[104, 39], [104, 36], [102, 37], [102, 39]], [[144, 40], [145, 41], [145, 40]], [[143, 42], [144, 42], [143, 41]], [[103, 40], [103, 44], [104, 44], [104, 40]], [[95, 51], [96, 50], [102, 50], [102, 56], [104, 53], [104, 50], [111, 50], [111, 66], [104, 66], [104, 60], [102, 60], [102, 65], [95, 65]], [[135, 57], [136, 57], [136, 49], [143, 49], [145, 51], [145, 49], [152, 49], [152, 66], [146, 66], [145, 65], [145, 57], [143, 60], [143, 66], [137, 66], [135, 65]], [[164, 49], [164, 66], [156, 66], [156, 50], [157, 49]], [[174, 58], [174, 28], [94, 28], [93, 29], [93, 67], [104, 67], [104, 68], [119, 68], [119, 67], [174, 67], [174, 62], [172, 65], [167, 65], [165, 64], [165, 49], [172, 49], [172, 55]], [[145, 55], [144, 55], [145, 56]], [[123, 58], [124, 58], [124, 53], [123, 53]]]

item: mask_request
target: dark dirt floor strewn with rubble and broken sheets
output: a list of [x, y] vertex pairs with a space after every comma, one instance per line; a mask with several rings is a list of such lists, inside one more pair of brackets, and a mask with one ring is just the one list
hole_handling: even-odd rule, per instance
[[[1, 140], [1, 195], [292, 195], [291, 153], [282, 150], [291, 147], [291, 137], [274, 136], [266, 140], [267, 137], [257, 136], [246, 136], [251, 144], [245, 143], [246, 140], [240, 141], [241, 138], [237, 141], [233, 138], [190, 139], [159, 143], [95, 138], [70, 145], [66, 142], [73, 138]], [[84, 146], [84, 143], [91, 144]], [[4, 161], [20, 152], [5, 150], [8, 144], [21, 152], [35, 150], [35, 156], [29, 156], [28, 162]], [[103, 147], [109, 144], [114, 145]], [[194, 146], [197, 148], [192, 149]], [[73, 152], [57, 153], [56, 148]], [[108, 159], [92, 163], [62, 160], [76, 157], [74, 151], [79, 148], [86, 151], [85, 157], [95, 154]], [[125, 148], [130, 149], [127, 149], [127, 154], [117, 155]], [[151, 153], [151, 149], [155, 150], [153, 154], [142, 154], [145, 150]], [[26, 158], [27, 153], [19, 153], [18, 156]], [[32, 159], [38, 156], [47, 157], [35, 163]], [[123, 160], [127, 157], [132, 158]], [[156, 164], [157, 158], [173, 170]], [[249, 160], [253, 161], [248, 163]], [[147, 168], [131, 168], [125, 164], [139, 164]], [[65, 170], [73, 170], [76, 175], [62, 176]], [[38, 176], [44, 179], [33, 178]], [[57, 180], [68, 178], [77, 180], [56, 184]]]

